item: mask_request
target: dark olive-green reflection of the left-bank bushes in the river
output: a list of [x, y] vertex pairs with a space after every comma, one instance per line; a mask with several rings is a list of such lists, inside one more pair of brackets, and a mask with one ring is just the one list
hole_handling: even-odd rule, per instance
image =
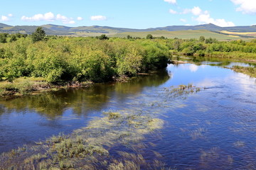
[[137, 77], [127, 83], [116, 83], [114, 86], [110, 84], [94, 84], [86, 89], [62, 90], [36, 96], [1, 100], [0, 104], [10, 112], [14, 109], [18, 112], [31, 109], [50, 119], [63, 115], [65, 108], [73, 108], [74, 113], [82, 115], [90, 109], [100, 111], [112, 97], [113, 91], [117, 91], [117, 94], [122, 93], [120, 96], [126, 98], [127, 96], [123, 96], [123, 94], [139, 93], [144, 86], [159, 86], [168, 79], [168, 73], [163, 70], [156, 74]]

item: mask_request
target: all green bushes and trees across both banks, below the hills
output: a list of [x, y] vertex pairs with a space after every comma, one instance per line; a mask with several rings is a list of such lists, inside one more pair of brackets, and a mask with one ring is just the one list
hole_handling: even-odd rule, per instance
[[0, 80], [43, 77], [53, 83], [111, 81], [166, 67], [171, 53], [247, 59], [247, 56], [255, 57], [256, 40], [220, 42], [203, 36], [198, 40], [181, 40], [152, 35], [142, 39], [102, 35], [97, 38], [47, 36], [35, 42], [33, 35], [3, 33], [0, 34]]

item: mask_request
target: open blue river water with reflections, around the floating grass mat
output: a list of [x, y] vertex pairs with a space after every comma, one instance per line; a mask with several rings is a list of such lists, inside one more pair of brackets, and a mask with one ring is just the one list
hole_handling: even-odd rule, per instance
[[[149, 163], [157, 158], [176, 169], [256, 169], [255, 79], [213, 62], [170, 64], [127, 83], [1, 100], [0, 152], [68, 134], [102, 111], [137, 110], [165, 121], [143, 141]], [[181, 98], [164, 94], [180, 84], [205, 89]], [[151, 109], [152, 103], [159, 108]]]

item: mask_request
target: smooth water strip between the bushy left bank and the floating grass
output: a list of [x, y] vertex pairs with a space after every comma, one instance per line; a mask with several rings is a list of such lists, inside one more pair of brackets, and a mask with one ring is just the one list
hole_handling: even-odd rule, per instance
[[59, 132], [70, 133], [85, 126], [90, 115], [100, 115], [113, 103], [123, 104], [129, 96], [141, 94], [144, 88], [164, 84], [169, 78], [163, 69], [127, 83], [95, 84], [85, 89], [60, 90], [9, 100], [1, 98], [0, 153]]

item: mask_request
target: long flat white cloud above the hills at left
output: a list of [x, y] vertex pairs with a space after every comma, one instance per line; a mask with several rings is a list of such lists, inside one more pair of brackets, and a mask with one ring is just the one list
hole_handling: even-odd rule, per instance
[[75, 21], [73, 21], [73, 18], [68, 18], [60, 14], [57, 14], [57, 16], [55, 16], [52, 12], [48, 12], [45, 14], [38, 13], [31, 17], [22, 16], [21, 20], [22, 21], [61, 21], [62, 23], [68, 23], [68, 24], [75, 23]]

